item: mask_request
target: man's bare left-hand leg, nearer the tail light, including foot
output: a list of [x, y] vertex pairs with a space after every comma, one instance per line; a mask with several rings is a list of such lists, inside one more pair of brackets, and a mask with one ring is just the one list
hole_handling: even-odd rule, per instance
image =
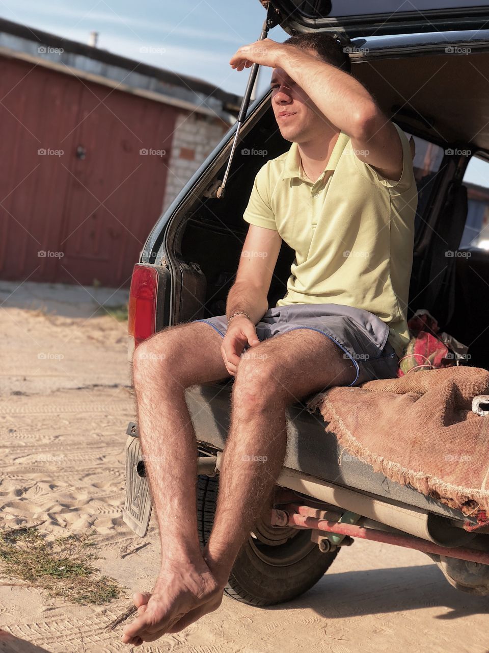
[[209, 325], [190, 323], [158, 332], [134, 354], [138, 424], [162, 565], [149, 602], [151, 595], [145, 595], [145, 619], [125, 627], [124, 643], [158, 639], [170, 622], [194, 607], [196, 597], [214, 596], [218, 588], [198, 541], [196, 436], [184, 392], [191, 385], [230, 377], [221, 344], [222, 336]]

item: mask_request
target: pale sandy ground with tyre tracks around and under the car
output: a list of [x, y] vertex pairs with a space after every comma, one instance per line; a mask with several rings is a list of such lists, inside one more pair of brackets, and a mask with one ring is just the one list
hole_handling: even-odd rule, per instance
[[[0, 282], [0, 302], [11, 291]], [[59, 297], [44, 288], [51, 300], [53, 293]], [[0, 311], [0, 528], [45, 520], [40, 530], [55, 537], [93, 527], [95, 565], [126, 596], [80, 607], [37, 588], [4, 585], [12, 579], [1, 577], [0, 627], [13, 637], [0, 635], [0, 651], [130, 650], [120, 642], [121, 627], [106, 626], [128, 607], [132, 590], [151, 590], [159, 546], [154, 522], [141, 540], [121, 518], [125, 430], [134, 413], [126, 324], [110, 315], [90, 318], [105, 299], [84, 291], [47, 301], [47, 312], [38, 310], [42, 301], [15, 296]], [[50, 313], [52, 306], [61, 314]], [[122, 557], [144, 541], [150, 545]], [[488, 612], [489, 597], [454, 590], [424, 554], [356, 541], [287, 605], [258, 609], [225, 597], [185, 631], [134, 650], [488, 653]]]

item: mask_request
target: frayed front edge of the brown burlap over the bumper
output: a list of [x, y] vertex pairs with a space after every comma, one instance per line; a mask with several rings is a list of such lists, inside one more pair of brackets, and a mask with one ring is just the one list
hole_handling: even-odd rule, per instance
[[489, 510], [489, 490], [452, 485], [424, 471], [409, 470], [392, 460], [368, 451], [346, 428], [326, 394], [312, 398], [307, 408], [310, 412], [319, 409], [327, 422], [325, 430], [336, 436], [338, 443], [344, 447], [342, 452], [346, 449], [355, 458], [370, 464], [374, 471], [380, 471], [391, 481], [396, 481], [400, 485], [411, 485], [421, 494], [460, 510], [467, 517], [479, 509]]

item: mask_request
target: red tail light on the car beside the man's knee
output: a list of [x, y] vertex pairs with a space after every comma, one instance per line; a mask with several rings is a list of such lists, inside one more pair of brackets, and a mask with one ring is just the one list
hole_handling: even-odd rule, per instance
[[129, 295], [129, 334], [134, 346], [156, 332], [158, 272], [153, 266], [137, 264], [132, 272]]

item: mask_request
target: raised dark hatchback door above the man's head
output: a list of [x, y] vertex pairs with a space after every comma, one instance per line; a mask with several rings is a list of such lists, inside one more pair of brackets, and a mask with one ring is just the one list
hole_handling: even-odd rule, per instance
[[487, 0], [272, 0], [272, 4], [288, 33], [322, 29], [343, 31], [353, 39], [489, 25]]

